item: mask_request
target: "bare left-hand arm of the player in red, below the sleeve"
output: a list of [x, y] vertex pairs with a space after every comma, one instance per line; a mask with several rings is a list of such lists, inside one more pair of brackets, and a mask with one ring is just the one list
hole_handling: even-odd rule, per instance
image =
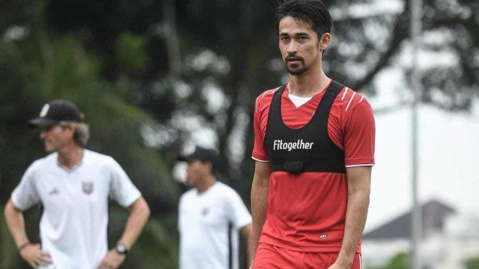
[[253, 260], [255, 259], [259, 235], [261, 235], [266, 220], [270, 175], [270, 162], [256, 162], [255, 175], [253, 176], [253, 184], [251, 185], [251, 216], [253, 217], [253, 229], [249, 248], [251, 264], [253, 264]]

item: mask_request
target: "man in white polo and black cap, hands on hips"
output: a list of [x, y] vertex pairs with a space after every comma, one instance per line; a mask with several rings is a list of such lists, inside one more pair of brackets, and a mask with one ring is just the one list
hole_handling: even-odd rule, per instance
[[[140, 192], [107, 155], [84, 149], [89, 138], [77, 106], [56, 100], [29, 121], [40, 128], [46, 157], [27, 168], [5, 205], [18, 252], [33, 268], [118, 268], [150, 214]], [[129, 209], [125, 231], [107, 249], [108, 198]], [[41, 244], [29, 241], [23, 211], [41, 203]]]

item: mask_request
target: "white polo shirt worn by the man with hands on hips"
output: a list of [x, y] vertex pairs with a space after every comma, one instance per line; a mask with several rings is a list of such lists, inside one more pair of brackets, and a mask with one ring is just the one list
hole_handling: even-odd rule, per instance
[[112, 157], [85, 149], [71, 170], [57, 157], [52, 153], [29, 166], [12, 203], [21, 210], [42, 203], [40, 240], [53, 260], [46, 268], [96, 268], [107, 253], [108, 196], [128, 207], [141, 194]]

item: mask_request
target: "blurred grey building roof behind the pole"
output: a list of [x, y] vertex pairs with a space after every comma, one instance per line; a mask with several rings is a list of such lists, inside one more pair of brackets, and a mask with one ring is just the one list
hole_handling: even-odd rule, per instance
[[[442, 231], [445, 218], [456, 210], [448, 205], [432, 200], [421, 206], [422, 237], [433, 231]], [[402, 214], [385, 225], [382, 225], [363, 235], [363, 240], [388, 240], [411, 238], [411, 211]]]

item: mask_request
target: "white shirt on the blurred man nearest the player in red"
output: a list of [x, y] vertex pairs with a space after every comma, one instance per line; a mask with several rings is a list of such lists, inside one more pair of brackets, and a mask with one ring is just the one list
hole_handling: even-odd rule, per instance
[[179, 268], [237, 269], [238, 231], [250, 223], [241, 197], [224, 183], [185, 192], [179, 201]]

